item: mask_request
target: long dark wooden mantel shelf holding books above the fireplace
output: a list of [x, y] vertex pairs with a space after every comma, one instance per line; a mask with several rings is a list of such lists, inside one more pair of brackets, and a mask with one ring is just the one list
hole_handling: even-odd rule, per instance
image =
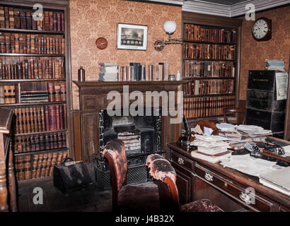
[[105, 81], [73, 81], [79, 88], [82, 87], [95, 87], [95, 86], [120, 86], [120, 85], [182, 85], [188, 81], [116, 81], [116, 82], [105, 82]]

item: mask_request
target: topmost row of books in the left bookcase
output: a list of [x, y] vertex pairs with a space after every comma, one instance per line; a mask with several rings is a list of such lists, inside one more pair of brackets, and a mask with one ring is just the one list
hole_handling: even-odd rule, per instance
[[64, 13], [0, 6], [0, 28], [64, 31]]

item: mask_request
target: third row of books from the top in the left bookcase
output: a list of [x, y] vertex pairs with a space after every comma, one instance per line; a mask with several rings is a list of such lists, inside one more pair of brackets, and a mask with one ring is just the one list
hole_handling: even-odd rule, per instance
[[[3, 60], [4, 61], [4, 60]], [[38, 79], [64, 78], [64, 59], [62, 57], [43, 59], [23, 59], [8, 63], [0, 59], [0, 79]]]

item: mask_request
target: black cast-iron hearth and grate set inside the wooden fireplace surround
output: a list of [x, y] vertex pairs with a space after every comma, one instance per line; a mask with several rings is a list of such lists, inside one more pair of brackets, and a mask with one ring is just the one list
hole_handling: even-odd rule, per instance
[[[161, 152], [161, 111], [151, 108], [151, 116], [110, 117], [106, 110], [99, 112], [100, 157], [96, 157], [97, 183], [103, 189], [110, 189], [110, 170], [103, 158], [103, 149], [108, 141], [120, 139], [124, 142], [127, 161], [127, 184], [146, 182], [146, 157]], [[158, 112], [157, 116], [153, 111]], [[144, 114], [146, 108], [144, 108]], [[156, 113], [155, 113], [156, 115]]]

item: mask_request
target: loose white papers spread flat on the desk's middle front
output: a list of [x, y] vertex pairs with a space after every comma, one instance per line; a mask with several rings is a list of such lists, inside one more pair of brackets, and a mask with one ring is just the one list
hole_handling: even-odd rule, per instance
[[261, 173], [275, 169], [274, 165], [277, 162], [270, 162], [259, 158], [247, 155], [231, 155], [229, 159], [221, 161], [221, 165], [232, 169], [237, 169], [245, 174], [250, 174], [259, 177]]

